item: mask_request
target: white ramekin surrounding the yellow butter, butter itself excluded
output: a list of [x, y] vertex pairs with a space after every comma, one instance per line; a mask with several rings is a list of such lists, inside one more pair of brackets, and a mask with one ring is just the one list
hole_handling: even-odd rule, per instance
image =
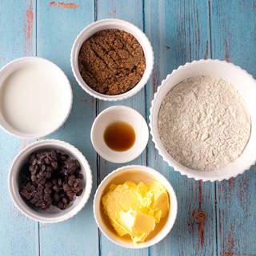
[[[133, 170], [134, 173], [130, 174], [130, 171]], [[123, 183], [126, 182], [127, 178], [130, 181], [136, 183], [148, 183], [152, 182], [153, 180], [157, 180], [158, 182], [162, 183], [163, 186], [165, 186], [169, 194], [170, 200], [170, 210], [164, 225], [158, 230], [157, 234], [155, 234], [153, 237], [146, 240], [146, 242], [138, 243], [137, 245], [134, 245], [133, 242], [129, 240], [120, 238], [118, 234], [115, 233], [114, 229], [110, 225], [106, 224], [106, 221], [104, 220], [105, 216], [104, 218], [102, 218], [102, 215], [104, 214], [102, 210], [102, 196], [103, 194], [105, 194], [105, 190], [111, 182]], [[94, 196], [94, 218], [97, 222], [99, 229], [102, 231], [103, 234], [105, 234], [106, 238], [110, 239], [110, 241], [114, 242], [118, 246], [126, 248], [142, 249], [149, 246], [154, 246], [156, 243], [160, 242], [163, 238], [166, 237], [167, 234], [169, 234], [170, 230], [174, 226], [174, 222], [177, 217], [177, 211], [178, 202], [176, 194], [174, 192], [173, 187], [170, 185], [170, 182], [157, 170], [154, 170], [147, 166], [123, 166], [121, 168], [118, 168], [117, 170], [112, 171], [110, 174], [106, 176], [106, 178], [102, 180]], [[160, 224], [161, 222], [158, 225]]]

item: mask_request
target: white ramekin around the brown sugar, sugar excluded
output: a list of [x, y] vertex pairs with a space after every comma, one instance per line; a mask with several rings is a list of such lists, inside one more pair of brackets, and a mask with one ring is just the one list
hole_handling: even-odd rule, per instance
[[[144, 51], [146, 70], [144, 71], [142, 79], [140, 80], [140, 82], [138, 82], [136, 86], [134, 86], [134, 88], [124, 94], [106, 95], [98, 93], [86, 84], [86, 82], [82, 79], [82, 76], [78, 69], [78, 54], [82, 43], [85, 42], [86, 39], [90, 38], [96, 32], [109, 29], [123, 30], [132, 34], [134, 38], [138, 40]], [[126, 22], [116, 18], [102, 19], [98, 22], [91, 23], [89, 26], [86, 26], [86, 28], [83, 29], [80, 34], [78, 34], [78, 37], [74, 40], [74, 45], [71, 50], [70, 58], [72, 71], [78, 84], [82, 87], [83, 90], [86, 91], [87, 94], [90, 94], [94, 98], [98, 98], [104, 101], [120, 101], [126, 98], [130, 98], [134, 94], [137, 94], [138, 91], [146, 85], [146, 82], [149, 80], [150, 74], [152, 73], [154, 66], [153, 48], [150, 44], [149, 39], [146, 37], [146, 34], [144, 34], [142, 30], [140, 30], [137, 26], [134, 26], [130, 22]]]

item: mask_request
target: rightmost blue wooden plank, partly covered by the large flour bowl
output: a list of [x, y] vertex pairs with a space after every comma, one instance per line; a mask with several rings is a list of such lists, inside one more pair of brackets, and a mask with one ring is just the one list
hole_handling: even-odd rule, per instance
[[[212, 1], [213, 58], [226, 59], [256, 77], [255, 1]], [[217, 183], [218, 254], [256, 254], [255, 166], [230, 181]]]

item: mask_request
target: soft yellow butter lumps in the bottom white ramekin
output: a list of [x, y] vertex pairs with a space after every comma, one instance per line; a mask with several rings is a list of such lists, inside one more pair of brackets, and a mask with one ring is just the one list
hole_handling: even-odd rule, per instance
[[157, 181], [111, 184], [102, 204], [117, 234], [129, 234], [134, 243], [144, 242], [170, 207], [166, 188]]

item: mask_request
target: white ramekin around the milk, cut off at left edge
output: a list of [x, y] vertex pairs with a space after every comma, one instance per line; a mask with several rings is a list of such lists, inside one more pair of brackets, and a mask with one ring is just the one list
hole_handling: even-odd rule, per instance
[[[54, 79], [57, 79], [59, 82], [62, 82], [63, 91], [60, 92], [60, 97], [65, 97], [66, 107], [62, 114], [62, 118], [56, 122], [56, 124], [53, 127], [45, 127], [45, 130], [41, 133], [24, 133], [22, 131], [17, 130], [13, 126], [10, 125], [9, 122], [6, 121], [6, 119], [1, 114], [1, 108], [0, 108], [0, 127], [2, 127], [3, 130], [5, 130], [7, 133], [14, 135], [18, 138], [42, 138], [46, 135], [49, 135], [53, 133], [54, 131], [58, 130], [64, 122], [66, 122], [66, 119], [70, 115], [70, 110], [72, 107], [72, 101], [73, 101], [73, 95], [72, 95], [72, 89], [70, 86], [70, 82], [68, 78], [66, 77], [66, 74], [56, 65], [54, 62], [50, 62], [49, 60], [45, 58], [38, 58], [38, 57], [24, 57], [24, 58], [17, 58], [14, 59], [14, 61], [9, 62], [6, 64], [6, 66], [3, 66], [0, 70], [0, 87], [2, 86], [3, 82], [6, 80], [10, 74], [12, 74], [15, 70], [18, 70], [19, 68], [24, 68], [26, 65], [37, 64], [42, 65], [42, 68], [46, 72], [50, 72], [50, 75], [54, 75]], [[1, 92], [1, 90], [0, 90]], [[30, 92], [27, 92], [28, 94]], [[62, 112], [63, 110], [60, 110]]]

